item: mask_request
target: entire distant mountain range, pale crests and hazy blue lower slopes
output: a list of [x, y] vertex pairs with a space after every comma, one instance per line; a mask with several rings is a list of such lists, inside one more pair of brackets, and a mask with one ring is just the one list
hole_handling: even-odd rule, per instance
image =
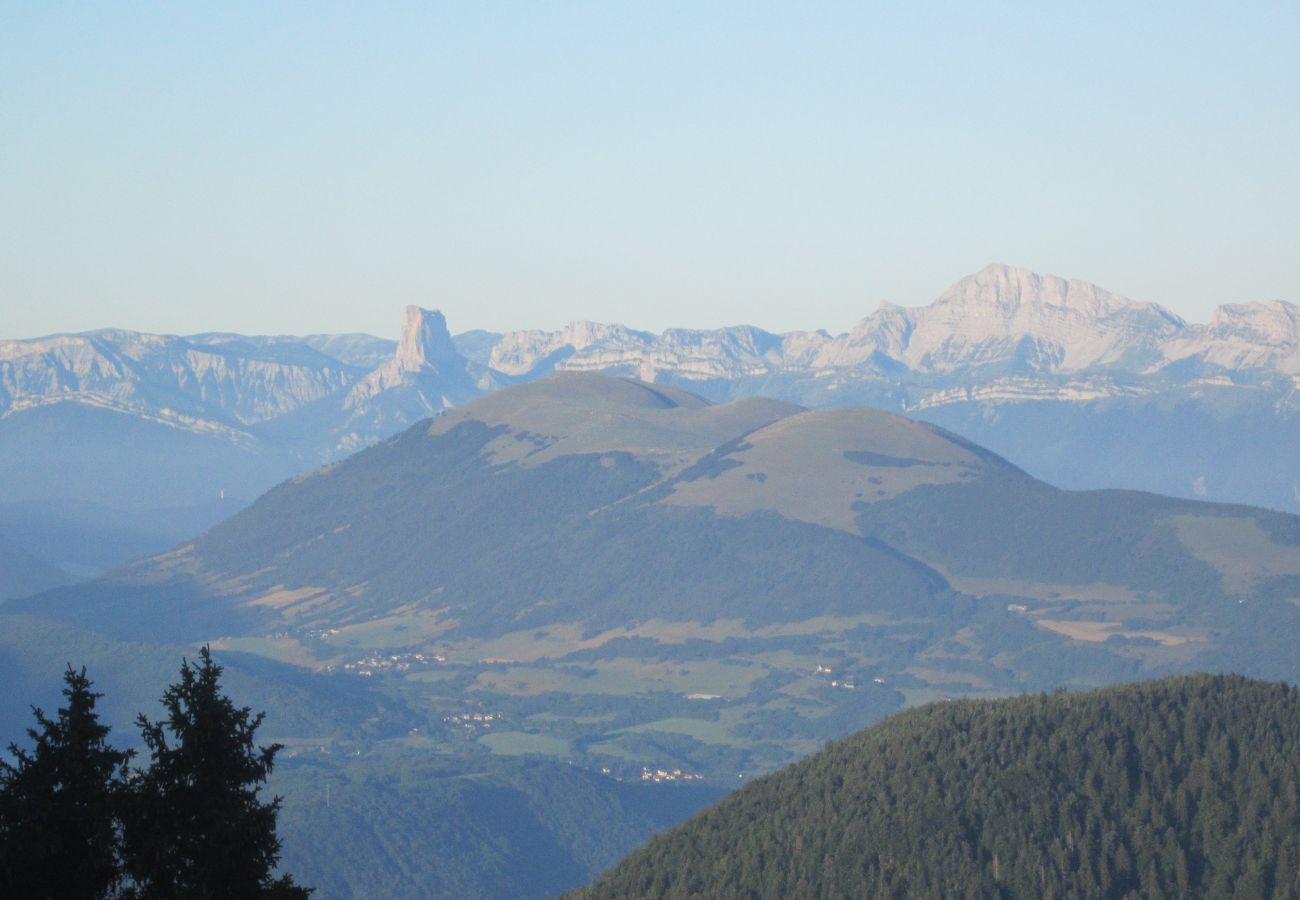
[[1002, 265], [926, 307], [884, 304], [838, 336], [575, 323], [452, 337], [442, 313], [411, 307], [396, 343], [122, 330], [5, 341], [0, 510], [58, 499], [139, 514], [225, 498], [229, 512], [421, 417], [566, 371], [715, 401], [876, 406], [1060, 486], [1300, 511], [1300, 308], [1223, 306], [1188, 324]]

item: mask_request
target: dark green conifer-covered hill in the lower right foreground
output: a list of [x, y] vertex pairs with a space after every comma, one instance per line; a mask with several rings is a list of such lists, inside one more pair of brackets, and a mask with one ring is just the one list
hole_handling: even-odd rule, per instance
[[1296, 897], [1300, 691], [936, 704], [737, 791], [573, 900]]

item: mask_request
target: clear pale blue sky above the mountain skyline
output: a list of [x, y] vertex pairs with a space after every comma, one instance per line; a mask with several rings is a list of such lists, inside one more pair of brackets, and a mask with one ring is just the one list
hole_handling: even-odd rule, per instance
[[1300, 302], [1300, 3], [0, 0], [0, 337]]

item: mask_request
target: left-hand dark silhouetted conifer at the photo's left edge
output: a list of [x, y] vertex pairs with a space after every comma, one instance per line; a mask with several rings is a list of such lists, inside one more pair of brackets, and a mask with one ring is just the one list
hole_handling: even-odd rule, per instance
[[64, 672], [68, 705], [32, 708], [30, 752], [0, 760], [0, 896], [105, 897], [120, 879], [114, 802], [129, 753], [105, 741], [86, 670]]

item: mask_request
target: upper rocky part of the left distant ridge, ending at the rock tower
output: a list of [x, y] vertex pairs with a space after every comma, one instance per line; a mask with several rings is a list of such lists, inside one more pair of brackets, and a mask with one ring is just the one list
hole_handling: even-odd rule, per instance
[[[381, 364], [363, 367], [381, 354]], [[307, 460], [387, 437], [491, 386], [491, 375], [456, 351], [442, 313], [419, 307], [407, 308], [395, 350], [363, 334], [100, 330], [0, 341], [0, 419], [95, 407], [250, 446], [287, 440]]]

